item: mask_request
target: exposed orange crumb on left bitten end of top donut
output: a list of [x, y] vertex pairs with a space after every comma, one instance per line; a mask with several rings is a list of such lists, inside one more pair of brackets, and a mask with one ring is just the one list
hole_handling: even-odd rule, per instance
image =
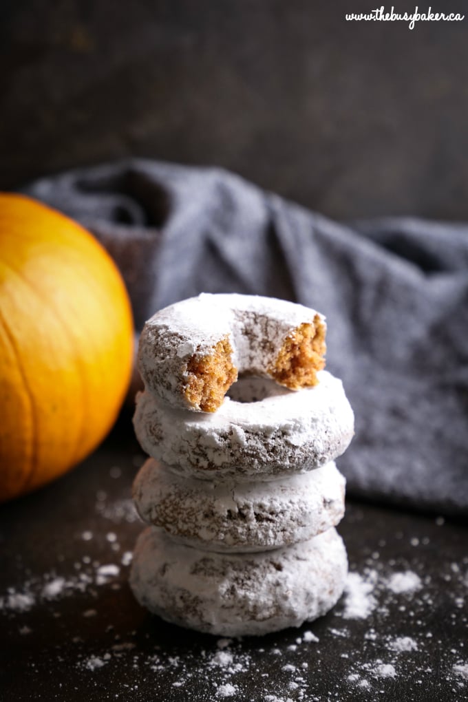
[[187, 373], [185, 397], [189, 403], [203, 412], [215, 412], [227, 390], [237, 380], [229, 339], [225, 337], [218, 341], [211, 354], [194, 354], [187, 363]]

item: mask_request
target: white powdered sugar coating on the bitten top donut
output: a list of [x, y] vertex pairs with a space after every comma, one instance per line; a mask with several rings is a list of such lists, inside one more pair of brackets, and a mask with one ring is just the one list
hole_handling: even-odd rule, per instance
[[223, 338], [232, 346], [239, 373], [267, 375], [286, 337], [300, 324], [313, 324], [309, 307], [256, 295], [202, 293], [165, 307], [149, 319], [140, 336], [138, 367], [151, 392], [178, 409], [199, 411], [185, 395], [187, 364], [209, 355]]

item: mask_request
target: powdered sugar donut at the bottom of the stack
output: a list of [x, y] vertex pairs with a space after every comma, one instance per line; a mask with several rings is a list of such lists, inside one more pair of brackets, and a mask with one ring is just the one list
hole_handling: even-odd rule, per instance
[[345, 588], [347, 555], [334, 528], [272, 551], [223, 554], [140, 534], [130, 584], [144, 607], [171, 623], [220, 636], [263, 635], [312, 621]]

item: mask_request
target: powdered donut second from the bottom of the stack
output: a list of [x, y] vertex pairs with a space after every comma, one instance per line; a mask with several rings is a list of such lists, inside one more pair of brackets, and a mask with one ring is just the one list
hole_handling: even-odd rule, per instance
[[181, 543], [254, 552], [307, 541], [345, 514], [345, 478], [334, 463], [267, 483], [182, 478], [149, 458], [133, 483], [140, 517]]

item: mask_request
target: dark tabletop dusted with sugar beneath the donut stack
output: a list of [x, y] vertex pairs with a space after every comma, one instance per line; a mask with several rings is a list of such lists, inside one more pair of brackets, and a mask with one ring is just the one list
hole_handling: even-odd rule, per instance
[[335, 609], [223, 640], [163, 623], [128, 588], [143, 460], [126, 418], [69, 475], [1, 507], [2, 702], [468, 699], [460, 522], [349, 498], [352, 576]]

